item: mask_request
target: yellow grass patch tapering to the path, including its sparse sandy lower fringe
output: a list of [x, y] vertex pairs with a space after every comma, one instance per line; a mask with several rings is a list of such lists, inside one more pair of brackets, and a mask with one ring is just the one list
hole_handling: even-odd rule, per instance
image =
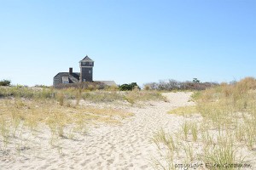
[[[3, 144], [24, 128], [32, 132], [39, 125], [49, 127], [52, 137], [67, 138], [66, 129], [73, 126], [79, 133], [90, 123], [118, 123], [131, 113], [113, 109], [99, 109], [83, 105], [61, 105], [54, 99], [2, 99], [0, 101], [1, 137]], [[22, 128], [19, 128], [22, 124]]]

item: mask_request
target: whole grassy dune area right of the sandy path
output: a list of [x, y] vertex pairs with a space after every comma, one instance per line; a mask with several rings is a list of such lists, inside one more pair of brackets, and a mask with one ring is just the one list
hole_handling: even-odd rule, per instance
[[204, 167], [216, 165], [212, 167], [215, 169], [252, 169], [252, 162], [256, 161], [255, 96], [253, 77], [195, 92], [192, 95], [195, 106], [169, 112], [184, 116], [180, 131], [171, 135], [161, 130], [154, 135], [162, 156], [154, 160], [155, 166], [176, 169], [180, 162], [187, 165], [197, 162], [196, 165], [202, 163]]

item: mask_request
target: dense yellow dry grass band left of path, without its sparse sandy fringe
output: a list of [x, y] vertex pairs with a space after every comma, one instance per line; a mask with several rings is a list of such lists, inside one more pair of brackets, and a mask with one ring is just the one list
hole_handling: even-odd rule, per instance
[[[34, 101], [29, 99], [2, 99], [1, 116], [9, 121], [19, 122], [21, 120], [29, 127], [36, 127], [33, 123], [62, 123], [72, 124], [81, 120], [105, 122], [118, 120], [131, 114], [113, 109], [98, 109], [83, 105], [70, 105], [55, 100]], [[61, 104], [60, 104], [61, 103]], [[15, 107], [14, 107], [15, 106]], [[6, 120], [7, 122], [7, 120]]]

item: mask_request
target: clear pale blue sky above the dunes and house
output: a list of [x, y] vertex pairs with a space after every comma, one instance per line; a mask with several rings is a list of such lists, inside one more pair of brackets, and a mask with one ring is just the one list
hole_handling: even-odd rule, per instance
[[0, 79], [230, 82], [256, 77], [255, 0], [0, 0]]

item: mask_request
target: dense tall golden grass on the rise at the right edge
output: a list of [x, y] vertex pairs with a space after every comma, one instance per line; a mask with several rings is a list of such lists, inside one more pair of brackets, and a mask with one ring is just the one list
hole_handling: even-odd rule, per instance
[[248, 149], [253, 150], [256, 144], [255, 89], [253, 77], [244, 78], [236, 84], [221, 84], [201, 94], [197, 109], [205, 119], [212, 120], [214, 127], [233, 129], [237, 140], [245, 140]]

